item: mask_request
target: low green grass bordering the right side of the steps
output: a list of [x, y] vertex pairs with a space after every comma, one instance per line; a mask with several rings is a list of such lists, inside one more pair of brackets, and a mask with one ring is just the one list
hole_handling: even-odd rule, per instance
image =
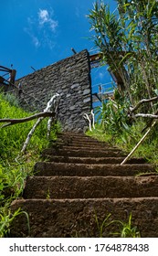
[[[158, 126], [158, 124], [157, 124]], [[111, 134], [102, 129], [100, 124], [96, 125], [96, 129], [92, 132], [88, 131], [87, 135], [98, 139], [101, 142], [117, 146], [127, 154], [129, 154], [133, 147], [142, 139], [142, 128], [144, 123], [139, 122], [132, 125], [129, 131], [122, 131], [120, 134]], [[149, 163], [158, 166], [158, 137], [156, 127], [151, 133], [148, 134], [145, 141], [138, 147], [132, 156], [143, 157]]]

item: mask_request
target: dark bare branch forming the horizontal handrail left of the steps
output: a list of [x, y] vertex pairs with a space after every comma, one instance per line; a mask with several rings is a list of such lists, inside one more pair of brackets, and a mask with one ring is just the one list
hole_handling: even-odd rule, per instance
[[25, 118], [21, 118], [21, 119], [10, 119], [10, 118], [0, 119], [0, 123], [6, 123], [2, 125], [0, 128], [4, 128], [6, 126], [17, 124], [17, 123], [26, 123], [40, 117], [48, 117], [48, 116], [55, 117], [55, 114], [56, 114], [55, 112], [39, 112], [37, 114], [31, 115]]

